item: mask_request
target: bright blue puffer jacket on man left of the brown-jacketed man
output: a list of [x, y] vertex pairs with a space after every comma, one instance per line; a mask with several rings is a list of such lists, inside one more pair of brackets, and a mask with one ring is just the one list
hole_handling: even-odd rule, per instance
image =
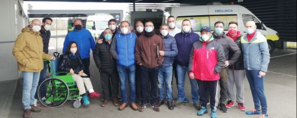
[[135, 33], [117, 33], [113, 38], [110, 52], [117, 59], [117, 64], [130, 66], [135, 64], [135, 46], [137, 36]]

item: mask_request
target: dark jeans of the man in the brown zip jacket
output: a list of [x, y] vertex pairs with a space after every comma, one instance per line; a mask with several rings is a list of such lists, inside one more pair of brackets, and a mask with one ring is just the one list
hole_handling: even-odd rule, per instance
[[141, 103], [146, 104], [146, 92], [147, 92], [147, 83], [151, 84], [151, 104], [156, 103], [157, 98], [157, 81], [158, 81], [158, 72], [159, 67], [155, 68], [145, 68], [140, 66], [141, 69]]

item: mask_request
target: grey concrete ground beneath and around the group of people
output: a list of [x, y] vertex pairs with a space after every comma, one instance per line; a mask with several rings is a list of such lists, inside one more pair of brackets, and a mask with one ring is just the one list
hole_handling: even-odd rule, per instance
[[[61, 40], [59, 42], [63, 41]], [[53, 51], [56, 51], [56, 49], [50, 50], [50, 52]], [[296, 50], [275, 50], [271, 57], [271, 62], [269, 63], [268, 72], [265, 77], [265, 93], [269, 117], [296, 117]], [[100, 73], [94, 61], [91, 61], [90, 69], [94, 90], [102, 93], [99, 77]], [[188, 77], [186, 78], [186, 96], [191, 100], [191, 86]], [[173, 83], [176, 83], [175, 79], [173, 81]], [[22, 117], [22, 80], [7, 83], [0, 82], [0, 110], [2, 110], [2, 112], [0, 111], [0, 117]], [[10, 89], [3, 90], [4, 88]], [[16, 88], [15, 92], [9, 92], [14, 90], [14, 88]], [[12, 93], [14, 93], [13, 96], [11, 95]], [[173, 97], [176, 100], [176, 84], [173, 84]], [[13, 99], [10, 100], [11, 98]], [[5, 99], [5, 102], [8, 103], [3, 105], [3, 100]], [[63, 106], [53, 109], [39, 105], [43, 110], [39, 113], [33, 113], [33, 117], [210, 117], [209, 113], [203, 116], [197, 116], [197, 110], [194, 108], [192, 100], [190, 103], [186, 103], [183, 106], [175, 107], [174, 110], [169, 110], [166, 104], [162, 105], [160, 106], [160, 112], [155, 112], [149, 107], [147, 107], [144, 112], [133, 111], [130, 107], [119, 111], [118, 107], [112, 105], [112, 102], [109, 102], [105, 107], [100, 107], [101, 98], [91, 98], [90, 102], [91, 104], [89, 106], [82, 105], [82, 107], [78, 109], [72, 107], [71, 101], [67, 101]], [[247, 79], [245, 81], [245, 106], [247, 110], [254, 107]], [[209, 110], [209, 105], [207, 107]], [[222, 113], [218, 110], [218, 117], [258, 117], [258, 115], [246, 115], [245, 112], [239, 111], [238, 108], [234, 106], [228, 109], [228, 113]]]

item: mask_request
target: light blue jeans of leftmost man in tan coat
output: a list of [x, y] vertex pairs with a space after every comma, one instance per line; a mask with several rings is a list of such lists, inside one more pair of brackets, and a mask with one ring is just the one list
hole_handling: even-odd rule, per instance
[[34, 96], [38, 86], [40, 72], [22, 72], [23, 75], [23, 93], [22, 103], [24, 109], [31, 109], [30, 105], [34, 105]]

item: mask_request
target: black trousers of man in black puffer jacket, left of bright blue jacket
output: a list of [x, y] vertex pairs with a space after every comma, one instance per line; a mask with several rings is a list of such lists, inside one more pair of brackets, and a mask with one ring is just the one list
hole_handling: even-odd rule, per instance
[[119, 73], [117, 71], [108, 74], [100, 72], [103, 99], [108, 100], [111, 97], [118, 98], [119, 95]]

